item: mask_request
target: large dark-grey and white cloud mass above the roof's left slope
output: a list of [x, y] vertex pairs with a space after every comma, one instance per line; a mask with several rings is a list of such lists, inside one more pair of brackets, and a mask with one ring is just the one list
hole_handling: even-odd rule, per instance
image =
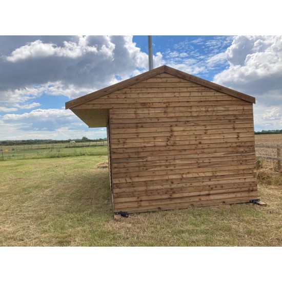
[[[28, 36], [27, 40], [0, 36], [2, 102], [33, 102], [43, 94], [76, 98], [148, 70], [148, 55], [136, 47], [132, 36]], [[156, 53], [154, 67], [164, 63], [162, 54]]]

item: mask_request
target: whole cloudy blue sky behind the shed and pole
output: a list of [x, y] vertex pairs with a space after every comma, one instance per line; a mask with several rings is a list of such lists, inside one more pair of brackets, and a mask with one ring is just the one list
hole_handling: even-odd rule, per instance
[[[152, 36], [167, 65], [256, 98], [255, 131], [282, 129], [282, 36]], [[147, 36], [0, 36], [0, 140], [90, 139], [65, 103], [148, 71]]]

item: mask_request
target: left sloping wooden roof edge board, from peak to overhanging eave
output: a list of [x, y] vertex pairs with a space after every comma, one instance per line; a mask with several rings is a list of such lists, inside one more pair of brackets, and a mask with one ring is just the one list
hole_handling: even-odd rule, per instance
[[89, 93], [87, 95], [84, 95], [82, 97], [78, 97], [78, 98], [73, 99], [69, 102], [66, 102], [66, 109], [70, 109], [72, 107], [87, 103], [90, 100], [93, 100], [93, 99], [102, 97], [104, 95], [110, 94], [114, 91], [123, 89], [123, 88], [128, 87], [130, 85], [133, 85], [135, 83], [142, 82], [145, 79], [148, 79], [148, 78], [153, 77], [157, 74], [163, 73], [164, 70], [165, 70], [165, 66], [160, 66], [158, 68], [152, 69], [150, 71], [147, 71], [147, 72], [138, 74], [136, 76], [133, 76], [131, 78], [128, 78], [126, 80], [123, 80], [122, 82], [118, 82], [114, 85], [111, 85], [111, 86], [108, 86], [106, 88], [94, 91], [94, 92]]

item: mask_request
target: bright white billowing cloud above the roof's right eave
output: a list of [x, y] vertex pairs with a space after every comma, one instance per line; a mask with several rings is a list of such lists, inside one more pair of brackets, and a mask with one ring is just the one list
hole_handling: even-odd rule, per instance
[[235, 36], [226, 55], [230, 66], [214, 82], [275, 106], [282, 95], [282, 36]]

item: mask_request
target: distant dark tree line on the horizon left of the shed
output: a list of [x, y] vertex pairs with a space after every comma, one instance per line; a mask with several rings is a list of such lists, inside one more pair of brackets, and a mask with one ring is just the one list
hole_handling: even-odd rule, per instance
[[27, 140], [0, 140], [0, 145], [28, 145], [28, 144], [41, 144], [41, 143], [69, 143], [71, 141], [79, 142], [99, 142], [107, 141], [107, 138], [89, 139], [83, 136], [81, 139], [68, 139], [68, 140], [52, 140], [52, 139], [27, 139]]

